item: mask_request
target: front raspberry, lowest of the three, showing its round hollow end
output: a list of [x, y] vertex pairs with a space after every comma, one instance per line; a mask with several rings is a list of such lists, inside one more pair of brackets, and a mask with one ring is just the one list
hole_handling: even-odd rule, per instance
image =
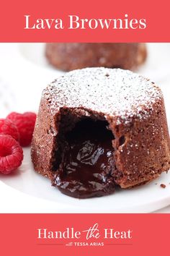
[[0, 135], [0, 172], [10, 174], [22, 164], [23, 151], [12, 136]]

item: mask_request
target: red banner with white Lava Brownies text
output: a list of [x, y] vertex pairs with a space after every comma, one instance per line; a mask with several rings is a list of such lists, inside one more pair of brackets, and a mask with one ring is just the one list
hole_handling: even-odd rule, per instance
[[169, 42], [169, 1], [4, 1], [1, 42]]

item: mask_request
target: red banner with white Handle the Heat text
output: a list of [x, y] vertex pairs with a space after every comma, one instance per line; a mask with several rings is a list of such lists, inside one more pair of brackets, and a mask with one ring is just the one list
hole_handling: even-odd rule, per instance
[[1, 214], [1, 255], [168, 255], [170, 215]]

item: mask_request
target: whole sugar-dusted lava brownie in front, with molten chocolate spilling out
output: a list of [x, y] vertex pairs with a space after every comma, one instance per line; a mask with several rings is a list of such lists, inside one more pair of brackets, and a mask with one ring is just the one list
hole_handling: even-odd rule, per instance
[[42, 93], [32, 162], [72, 197], [151, 182], [170, 165], [160, 88], [123, 69], [86, 68], [58, 77]]

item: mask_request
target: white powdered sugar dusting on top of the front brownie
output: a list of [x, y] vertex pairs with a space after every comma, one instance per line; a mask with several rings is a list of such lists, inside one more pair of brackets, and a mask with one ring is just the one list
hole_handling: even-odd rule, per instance
[[42, 97], [51, 112], [61, 107], [84, 108], [116, 116], [117, 124], [145, 119], [163, 97], [151, 80], [123, 69], [86, 68], [68, 72], [48, 85]]

